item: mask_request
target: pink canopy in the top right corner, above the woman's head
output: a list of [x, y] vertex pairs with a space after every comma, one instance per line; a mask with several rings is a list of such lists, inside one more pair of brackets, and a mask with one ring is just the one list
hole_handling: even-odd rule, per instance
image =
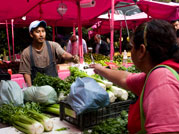
[[140, 0], [137, 5], [152, 18], [168, 21], [179, 19], [179, 3]]

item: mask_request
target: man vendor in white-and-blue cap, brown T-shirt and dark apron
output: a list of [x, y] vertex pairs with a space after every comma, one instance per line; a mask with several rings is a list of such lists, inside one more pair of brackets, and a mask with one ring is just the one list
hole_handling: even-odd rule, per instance
[[77, 63], [79, 58], [72, 56], [53, 41], [46, 41], [46, 22], [33, 21], [29, 25], [29, 34], [32, 44], [21, 54], [19, 73], [23, 74], [27, 86], [32, 86], [37, 72], [57, 77], [56, 59], [63, 58]]

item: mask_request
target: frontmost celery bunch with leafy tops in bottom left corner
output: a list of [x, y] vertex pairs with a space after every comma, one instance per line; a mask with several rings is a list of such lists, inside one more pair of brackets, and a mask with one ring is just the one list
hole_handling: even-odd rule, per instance
[[44, 131], [43, 125], [29, 117], [29, 111], [39, 112], [39, 109], [40, 106], [35, 103], [26, 103], [24, 106], [4, 104], [0, 106], [0, 120], [3, 123], [13, 125], [24, 133], [39, 134]]

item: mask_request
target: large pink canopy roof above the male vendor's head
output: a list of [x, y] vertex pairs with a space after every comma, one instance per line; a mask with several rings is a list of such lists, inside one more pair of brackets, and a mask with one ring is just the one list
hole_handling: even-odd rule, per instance
[[[84, 8], [82, 3], [85, 1], [95, 1], [95, 4]], [[116, 0], [115, 2], [121, 1], [133, 3], [133, 0]], [[29, 25], [31, 21], [40, 19], [47, 21], [48, 25], [73, 26], [78, 22], [78, 2], [81, 3], [83, 25], [94, 24], [92, 19], [111, 8], [110, 0], [8, 0], [1, 2], [0, 22], [14, 19], [15, 24]], [[60, 15], [58, 9], [64, 14]], [[22, 20], [23, 16], [25, 20]]]

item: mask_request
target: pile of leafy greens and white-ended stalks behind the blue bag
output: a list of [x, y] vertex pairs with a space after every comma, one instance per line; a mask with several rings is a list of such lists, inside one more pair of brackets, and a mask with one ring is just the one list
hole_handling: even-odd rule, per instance
[[[117, 87], [113, 85], [112, 82], [107, 81], [106, 79], [102, 78], [101, 76], [94, 74], [94, 75], [88, 75], [85, 71], [79, 70], [77, 67], [70, 67], [70, 76], [67, 77], [65, 80], [61, 80], [58, 77], [51, 77], [44, 74], [38, 73], [36, 78], [34, 79], [34, 85], [37, 86], [44, 86], [44, 85], [50, 85], [52, 86], [57, 94], [58, 94], [58, 100], [64, 100], [65, 96], [67, 96], [70, 92], [70, 86], [71, 84], [76, 80], [77, 77], [90, 77], [96, 80], [96, 82], [99, 83], [100, 86], [102, 86], [109, 94], [110, 102], [114, 102], [115, 100], [127, 100], [128, 97], [133, 97], [134, 95], [125, 89], [121, 89], [120, 87]], [[132, 97], [131, 97], [132, 96]]]

